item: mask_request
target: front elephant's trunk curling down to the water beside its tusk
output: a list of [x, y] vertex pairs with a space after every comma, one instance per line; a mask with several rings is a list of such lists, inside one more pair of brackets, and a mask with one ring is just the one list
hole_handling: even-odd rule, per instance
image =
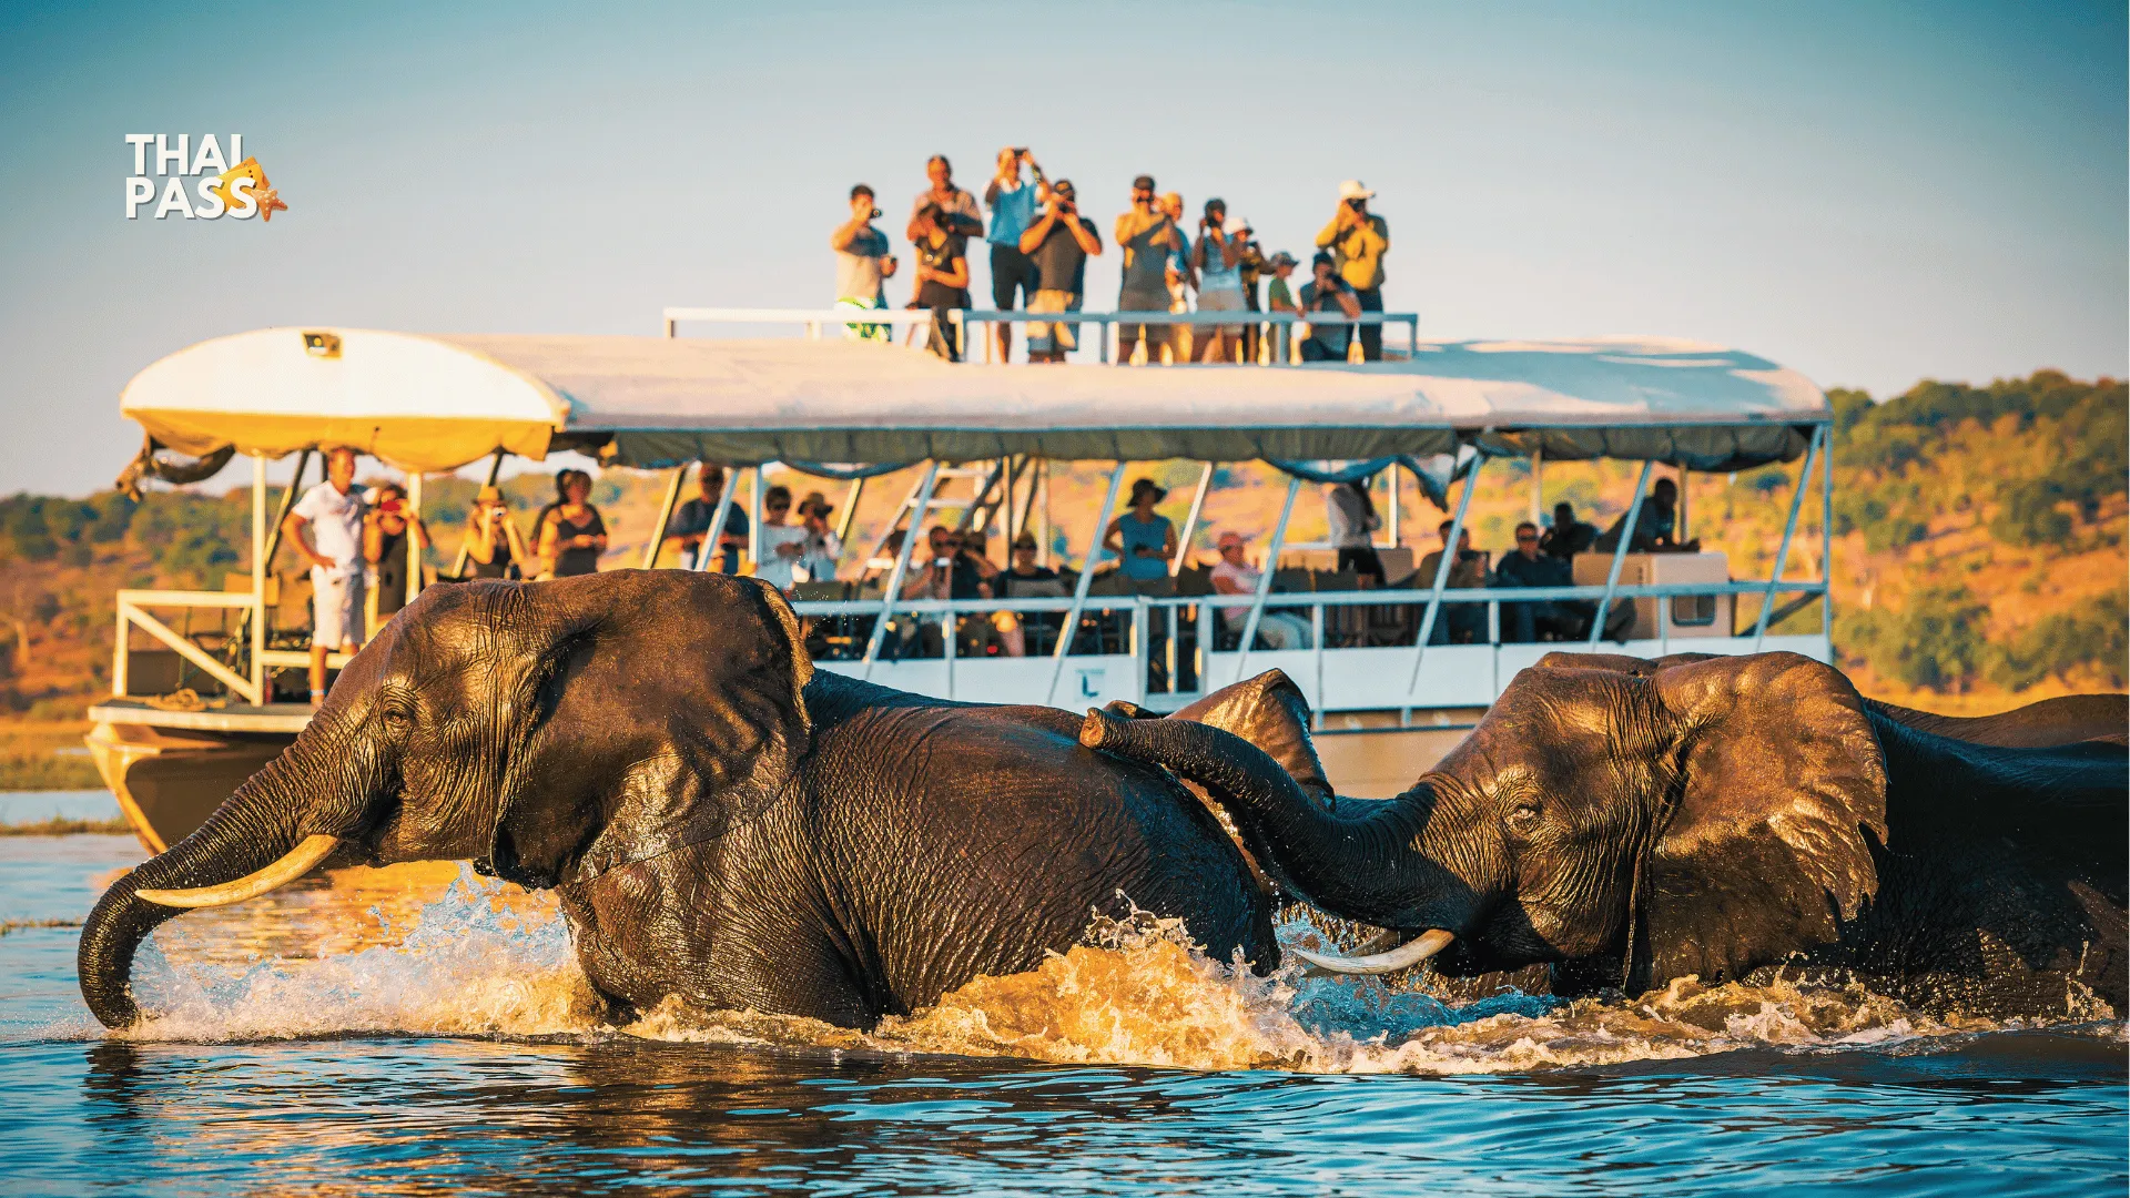
[[[149, 932], [183, 910], [149, 902], [141, 891], [219, 887], [247, 874], [268, 872], [298, 848], [307, 808], [309, 804], [296, 793], [290, 755], [283, 752], [239, 787], [198, 831], [104, 891], [81, 925], [81, 946], [75, 953], [81, 998], [104, 1027], [128, 1027], [141, 1019], [141, 1008], [132, 1000], [134, 951]], [[326, 838], [313, 838], [313, 848], [315, 840]]]

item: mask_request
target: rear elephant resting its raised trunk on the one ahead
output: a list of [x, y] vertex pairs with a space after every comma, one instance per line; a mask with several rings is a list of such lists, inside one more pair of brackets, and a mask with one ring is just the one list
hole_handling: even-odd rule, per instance
[[1559, 995], [1636, 995], [1802, 966], [2062, 1015], [2068, 983], [2130, 1006], [2130, 750], [2107, 710], [2130, 708], [1949, 725], [1800, 654], [1551, 654], [1395, 799], [1325, 802], [1212, 727], [1088, 712], [1080, 740], [1195, 782], [1282, 887], [1389, 929], [1350, 957], [1297, 949], [1318, 970], [1542, 966]]

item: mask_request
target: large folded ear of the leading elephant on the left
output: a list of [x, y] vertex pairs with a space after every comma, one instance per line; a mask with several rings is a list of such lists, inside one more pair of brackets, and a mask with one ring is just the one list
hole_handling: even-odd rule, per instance
[[539, 586], [564, 629], [537, 738], [552, 782], [522, 787], [501, 821], [524, 872], [594, 878], [724, 836], [788, 791], [812, 750], [814, 661], [775, 586], [692, 571]]

